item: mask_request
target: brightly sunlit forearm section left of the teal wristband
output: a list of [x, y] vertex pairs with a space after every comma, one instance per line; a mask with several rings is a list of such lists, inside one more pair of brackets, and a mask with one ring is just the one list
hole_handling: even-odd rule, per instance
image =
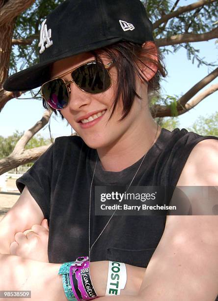
[[28, 290], [31, 300], [65, 301], [60, 264], [0, 254], [0, 290]]

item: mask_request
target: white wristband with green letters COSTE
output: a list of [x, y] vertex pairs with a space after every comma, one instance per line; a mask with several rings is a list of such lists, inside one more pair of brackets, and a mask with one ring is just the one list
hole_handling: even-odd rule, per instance
[[126, 285], [126, 265], [122, 262], [109, 261], [106, 296], [120, 295]]

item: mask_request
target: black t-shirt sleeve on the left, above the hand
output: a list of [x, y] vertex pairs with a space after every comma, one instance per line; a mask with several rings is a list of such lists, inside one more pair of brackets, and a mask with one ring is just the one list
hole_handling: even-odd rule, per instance
[[41, 208], [44, 217], [49, 220], [51, 201], [51, 179], [53, 173], [54, 144], [45, 151], [24, 175], [16, 181], [22, 193], [27, 186], [31, 196]]

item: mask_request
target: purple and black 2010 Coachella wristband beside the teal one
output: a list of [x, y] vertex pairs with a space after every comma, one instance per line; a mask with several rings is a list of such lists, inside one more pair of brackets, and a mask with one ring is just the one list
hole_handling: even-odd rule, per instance
[[78, 301], [98, 298], [91, 282], [89, 265], [88, 256], [81, 256], [70, 266], [71, 288]]

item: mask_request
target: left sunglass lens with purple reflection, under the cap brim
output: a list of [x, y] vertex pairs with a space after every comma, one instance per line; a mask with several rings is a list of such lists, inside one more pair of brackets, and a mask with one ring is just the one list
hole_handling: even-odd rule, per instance
[[42, 86], [42, 94], [55, 110], [64, 109], [69, 101], [67, 87], [62, 79], [54, 79]]

